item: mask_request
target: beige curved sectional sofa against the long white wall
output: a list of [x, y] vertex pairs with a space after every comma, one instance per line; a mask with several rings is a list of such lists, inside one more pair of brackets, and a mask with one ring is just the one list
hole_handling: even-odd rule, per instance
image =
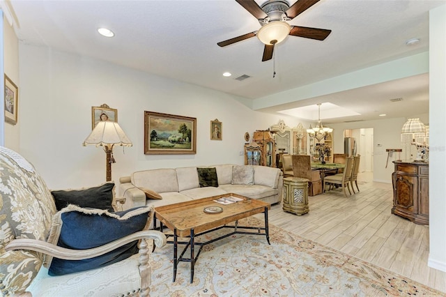
[[[203, 197], [236, 193], [269, 204], [282, 201], [283, 175], [280, 169], [249, 165], [214, 165], [217, 187], [200, 187], [197, 167], [149, 169], [119, 179], [119, 194], [125, 198], [123, 209], [137, 206], [164, 206]], [[252, 176], [250, 176], [252, 172]], [[143, 190], [162, 199], [148, 199]]]

